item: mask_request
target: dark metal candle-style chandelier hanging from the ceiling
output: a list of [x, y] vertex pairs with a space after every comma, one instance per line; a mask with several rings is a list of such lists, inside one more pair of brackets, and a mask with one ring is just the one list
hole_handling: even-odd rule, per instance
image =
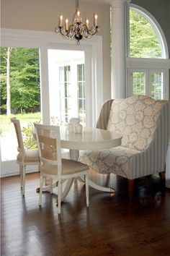
[[99, 26], [97, 25], [97, 14], [94, 14], [94, 25], [89, 28], [89, 20], [86, 19], [85, 24], [82, 24], [81, 13], [79, 11], [79, 0], [76, 0], [76, 12], [73, 15], [73, 24], [68, 25], [68, 19], [65, 20], [63, 26], [63, 15], [61, 14], [58, 19], [58, 27], [55, 27], [55, 33], [61, 33], [63, 38], [71, 38], [76, 40], [79, 45], [81, 39], [91, 38], [99, 32]]

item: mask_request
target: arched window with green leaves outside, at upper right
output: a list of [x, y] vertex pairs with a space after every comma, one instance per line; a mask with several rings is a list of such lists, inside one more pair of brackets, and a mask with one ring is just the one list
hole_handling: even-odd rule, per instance
[[131, 4], [129, 24], [130, 57], [168, 58], [168, 47], [164, 33], [149, 12]]

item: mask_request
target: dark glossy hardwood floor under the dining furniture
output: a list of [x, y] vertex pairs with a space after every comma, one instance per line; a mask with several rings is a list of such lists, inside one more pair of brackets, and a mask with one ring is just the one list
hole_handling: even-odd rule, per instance
[[161, 256], [170, 255], [170, 189], [148, 176], [135, 180], [135, 197], [128, 201], [128, 181], [113, 174], [91, 174], [116, 189], [115, 197], [75, 181], [62, 203], [56, 192], [42, 195], [38, 207], [39, 174], [27, 174], [25, 197], [19, 176], [1, 179], [1, 255], [16, 256]]

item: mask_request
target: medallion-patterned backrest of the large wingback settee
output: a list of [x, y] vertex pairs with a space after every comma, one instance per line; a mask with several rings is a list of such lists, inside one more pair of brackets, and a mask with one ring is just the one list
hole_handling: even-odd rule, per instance
[[[156, 137], [156, 129], [160, 129], [160, 133], [166, 131], [164, 137], [168, 137], [169, 116], [164, 114], [168, 104], [169, 101], [157, 101], [147, 95], [115, 99], [110, 108], [107, 129], [122, 135], [123, 147], [145, 150]], [[161, 126], [160, 121], [163, 123]]]

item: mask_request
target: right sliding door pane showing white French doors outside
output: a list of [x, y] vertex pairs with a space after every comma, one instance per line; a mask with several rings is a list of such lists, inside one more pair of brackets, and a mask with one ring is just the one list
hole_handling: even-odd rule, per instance
[[79, 116], [86, 125], [84, 51], [49, 49], [48, 67], [51, 118], [67, 124], [71, 117]]

